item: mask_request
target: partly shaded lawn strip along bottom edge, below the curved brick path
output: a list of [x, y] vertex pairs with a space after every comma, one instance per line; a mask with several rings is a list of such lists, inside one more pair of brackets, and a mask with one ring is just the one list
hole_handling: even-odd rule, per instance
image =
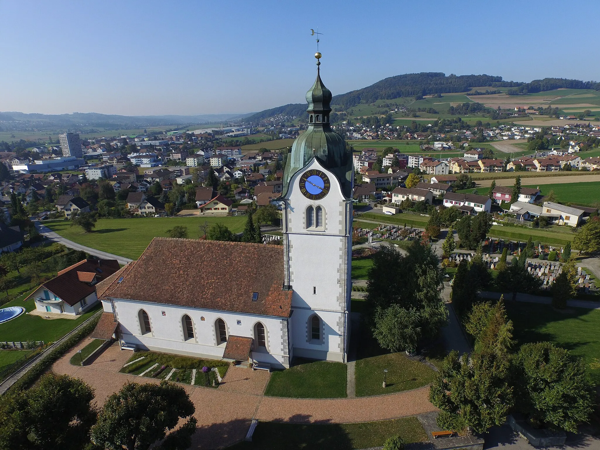
[[229, 450], [352, 450], [381, 447], [386, 439], [398, 435], [404, 443], [427, 440], [427, 433], [416, 417], [358, 424], [259, 422], [252, 442], [240, 442]]

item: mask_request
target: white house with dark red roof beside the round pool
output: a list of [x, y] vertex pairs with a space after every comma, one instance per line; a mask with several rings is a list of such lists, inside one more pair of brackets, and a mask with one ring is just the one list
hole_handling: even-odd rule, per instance
[[119, 270], [115, 259], [84, 259], [40, 285], [31, 295], [35, 309], [43, 313], [75, 316], [98, 302], [96, 284]]

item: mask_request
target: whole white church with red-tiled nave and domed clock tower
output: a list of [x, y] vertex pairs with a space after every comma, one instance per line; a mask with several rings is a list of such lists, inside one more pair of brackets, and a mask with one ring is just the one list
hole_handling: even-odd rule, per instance
[[329, 124], [332, 95], [315, 57], [308, 129], [293, 143], [278, 199], [283, 246], [154, 238], [97, 284], [104, 313], [93, 335], [257, 368], [288, 368], [294, 356], [346, 362], [352, 154]]

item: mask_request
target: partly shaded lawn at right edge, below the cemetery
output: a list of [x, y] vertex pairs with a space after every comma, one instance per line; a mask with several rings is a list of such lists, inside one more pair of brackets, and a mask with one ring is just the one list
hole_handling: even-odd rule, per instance
[[555, 310], [550, 305], [506, 302], [519, 344], [552, 341], [582, 356], [588, 373], [600, 384], [600, 310], [568, 308]]

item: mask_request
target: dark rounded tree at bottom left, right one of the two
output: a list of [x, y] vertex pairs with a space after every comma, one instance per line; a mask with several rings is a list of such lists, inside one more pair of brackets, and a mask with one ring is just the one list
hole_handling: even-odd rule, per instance
[[181, 418], [188, 418], [184, 427], [193, 433], [194, 410], [185, 389], [175, 383], [164, 380], [160, 385], [128, 383], [104, 404], [92, 428], [92, 440], [102, 448], [147, 450], [163, 439]]

